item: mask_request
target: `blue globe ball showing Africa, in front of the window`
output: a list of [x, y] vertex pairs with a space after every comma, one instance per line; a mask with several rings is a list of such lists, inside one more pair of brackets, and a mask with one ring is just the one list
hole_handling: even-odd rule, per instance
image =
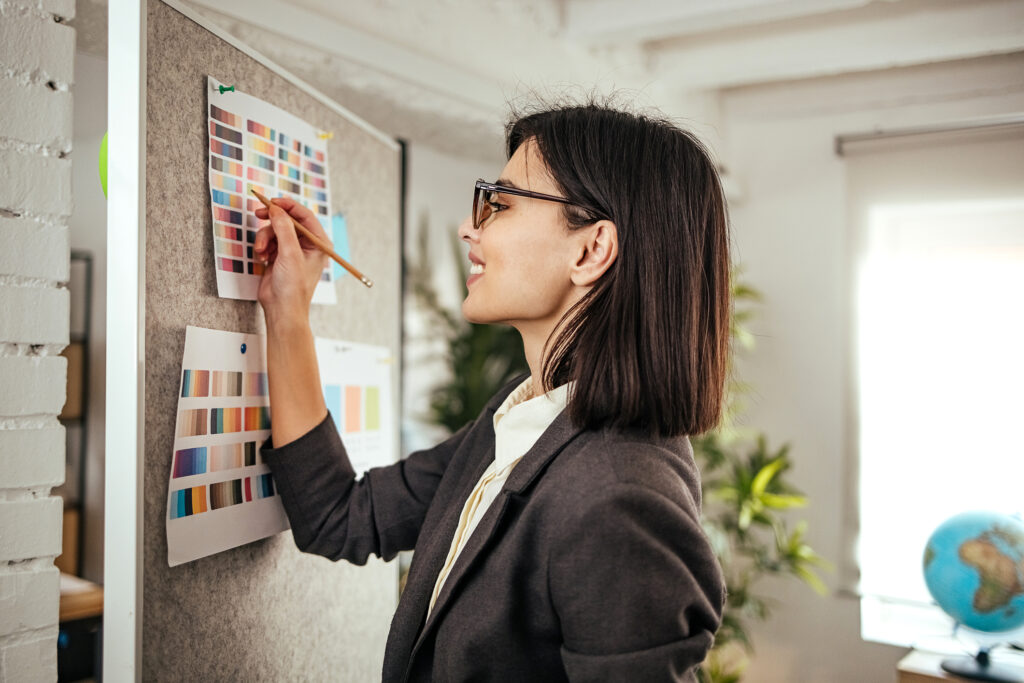
[[1024, 626], [1024, 521], [965, 512], [939, 524], [925, 547], [925, 583], [957, 624], [985, 633]]

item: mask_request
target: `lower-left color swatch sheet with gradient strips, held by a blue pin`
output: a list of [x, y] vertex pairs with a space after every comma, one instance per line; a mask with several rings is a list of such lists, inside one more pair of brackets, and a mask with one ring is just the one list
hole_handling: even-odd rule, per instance
[[288, 528], [260, 446], [270, 435], [257, 335], [188, 327], [167, 493], [170, 566]]

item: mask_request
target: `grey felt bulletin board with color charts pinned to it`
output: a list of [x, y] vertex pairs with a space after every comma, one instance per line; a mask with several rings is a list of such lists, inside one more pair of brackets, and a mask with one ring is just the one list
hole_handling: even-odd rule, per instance
[[183, 12], [160, 0], [146, 5], [140, 677], [379, 679], [397, 603], [396, 562], [333, 563], [300, 553], [285, 531], [168, 566], [167, 486], [185, 328], [263, 332], [258, 303], [217, 296], [208, 76], [333, 133], [331, 204], [344, 212], [351, 262], [375, 285], [339, 278], [337, 303], [312, 306], [313, 333], [391, 349], [395, 411], [400, 344], [397, 144]]

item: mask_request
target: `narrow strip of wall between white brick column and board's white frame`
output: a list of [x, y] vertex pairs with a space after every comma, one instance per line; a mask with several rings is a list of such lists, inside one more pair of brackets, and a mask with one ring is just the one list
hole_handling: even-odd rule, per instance
[[88, 444], [83, 497], [82, 575], [103, 582], [103, 438], [106, 380], [106, 198], [99, 184], [99, 142], [106, 132], [106, 60], [75, 53], [71, 248], [92, 254]]

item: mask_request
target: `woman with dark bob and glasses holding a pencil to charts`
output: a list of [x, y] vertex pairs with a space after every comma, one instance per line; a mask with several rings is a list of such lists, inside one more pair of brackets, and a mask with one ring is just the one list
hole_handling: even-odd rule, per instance
[[325, 257], [289, 200], [261, 217], [273, 409], [263, 451], [306, 552], [416, 549], [385, 681], [693, 680], [724, 601], [687, 434], [715, 425], [728, 234], [688, 133], [598, 105], [507, 129], [460, 226], [463, 313], [514, 326], [529, 376], [436, 447], [355, 480], [321, 396], [309, 301]]

